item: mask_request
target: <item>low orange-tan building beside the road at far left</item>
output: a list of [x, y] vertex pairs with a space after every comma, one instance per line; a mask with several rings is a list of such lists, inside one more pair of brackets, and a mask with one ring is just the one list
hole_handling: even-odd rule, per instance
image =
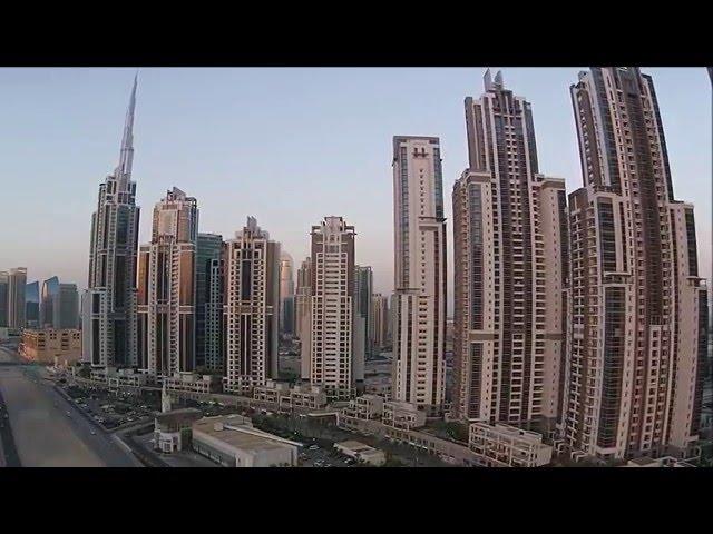
[[30, 362], [74, 364], [81, 359], [81, 332], [75, 328], [26, 328], [20, 355]]

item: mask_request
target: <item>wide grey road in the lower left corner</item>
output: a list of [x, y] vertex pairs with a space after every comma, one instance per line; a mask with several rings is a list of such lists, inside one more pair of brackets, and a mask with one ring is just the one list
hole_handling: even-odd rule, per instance
[[[0, 347], [0, 360], [14, 358], [9, 349]], [[43, 376], [41, 367], [0, 367], [0, 390], [23, 467], [140, 465]]]

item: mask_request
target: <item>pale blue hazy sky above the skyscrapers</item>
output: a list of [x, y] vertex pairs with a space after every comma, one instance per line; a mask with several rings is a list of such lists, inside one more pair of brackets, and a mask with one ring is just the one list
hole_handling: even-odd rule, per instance
[[[580, 187], [569, 85], [582, 68], [504, 68], [533, 103], [540, 172]], [[702, 276], [711, 277], [711, 81], [704, 68], [654, 78], [674, 191], [692, 201]], [[201, 231], [232, 238], [248, 215], [295, 259], [312, 225], [341, 215], [374, 288], [393, 285], [391, 138], [441, 138], [450, 191], [467, 164], [463, 98], [484, 68], [141, 69], [134, 180], [150, 211], [176, 186], [198, 199]], [[0, 69], [0, 269], [86, 287], [99, 182], [117, 165], [131, 69]], [[450, 276], [450, 275], [449, 275]], [[452, 280], [449, 280], [452, 281]], [[449, 306], [450, 307], [450, 306]]]

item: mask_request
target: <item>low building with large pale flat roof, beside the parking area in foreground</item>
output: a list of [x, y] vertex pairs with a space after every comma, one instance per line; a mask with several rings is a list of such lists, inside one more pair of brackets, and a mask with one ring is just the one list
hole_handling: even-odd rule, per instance
[[247, 417], [204, 417], [193, 423], [193, 449], [224, 467], [296, 466], [301, 443], [253, 428]]

